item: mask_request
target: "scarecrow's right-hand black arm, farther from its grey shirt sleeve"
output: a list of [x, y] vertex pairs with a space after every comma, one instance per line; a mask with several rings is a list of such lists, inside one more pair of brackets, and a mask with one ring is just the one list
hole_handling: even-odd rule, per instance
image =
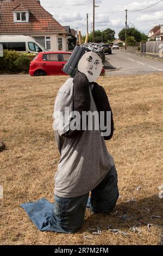
[[100, 114], [101, 111], [104, 111], [105, 126], [106, 126], [106, 112], [107, 111], [111, 112], [111, 133], [109, 136], [104, 136], [105, 140], [109, 140], [112, 138], [114, 133], [114, 120], [112, 117], [112, 111], [111, 111], [110, 103], [108, 100], [108, 96], [106, 95], [105, 90], [102, 86], [99, 86], [98, 83], [92, 83], [92, 84], [93, 84], [92, 96], [95, 101], [98, 113]]

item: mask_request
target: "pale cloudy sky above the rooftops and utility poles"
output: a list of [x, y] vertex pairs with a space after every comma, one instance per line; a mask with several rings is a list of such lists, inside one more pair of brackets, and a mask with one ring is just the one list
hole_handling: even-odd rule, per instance
[[[86, 14], [89, 14], [89, 32], [92, 29], [93, 0], [41, 0], [41, 5], [54, 16], [62, 26], [81, 31], [86, 34]], [[95, 29], [103, 31], [106, 28], [114, 29], [115, 37], [125, 27], [126, 12], [128, 9], [128, 26], [139, 31], [148, 32], [159, 24], [163, 24], [163, 1], [142, 11], [135, 11], [155, 4], [159, 0], [95, 0], [99, 7], [95, 8]], [[115, 13], [111, 13], [115, 12]], [[117, 12], [117, 13], [116, 13]]]

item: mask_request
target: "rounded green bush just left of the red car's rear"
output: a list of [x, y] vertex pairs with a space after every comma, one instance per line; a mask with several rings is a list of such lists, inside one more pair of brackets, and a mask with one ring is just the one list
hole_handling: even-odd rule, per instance
[[27, 54], [22, 54], [16, 59], [14, 64], [18, 71], [27, 72], [29, 70], [30, 59]]

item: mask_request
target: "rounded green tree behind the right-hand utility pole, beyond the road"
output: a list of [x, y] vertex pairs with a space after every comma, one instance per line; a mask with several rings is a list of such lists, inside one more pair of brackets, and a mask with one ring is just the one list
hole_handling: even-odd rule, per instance
[[[118, 34], [119, 38], [122, 41], [126, 40], [126, 29], [123, 28], [120, 33]], [[136, 29], [136, 28], [127, 28], [127, 37], [128, 36], [134, 36], [134, 39], [136, 42], [140, 42], [141, 41], [141, 33]]]

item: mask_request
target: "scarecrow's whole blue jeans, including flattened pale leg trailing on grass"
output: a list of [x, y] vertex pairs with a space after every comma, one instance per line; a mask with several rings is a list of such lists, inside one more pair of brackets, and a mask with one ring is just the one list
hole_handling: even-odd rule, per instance
[[45, 198], [36, 202], [21, 205], [30, 220], [40, 231], [58, 233], [74, 233], [82, 227], [86, 207], [96, 214], [110, 212], [118, 199], [117, 172], [113, 166], [102, 182], [84, 196], [75, 198], [60, 198], [55, 195], [55, 203]]

